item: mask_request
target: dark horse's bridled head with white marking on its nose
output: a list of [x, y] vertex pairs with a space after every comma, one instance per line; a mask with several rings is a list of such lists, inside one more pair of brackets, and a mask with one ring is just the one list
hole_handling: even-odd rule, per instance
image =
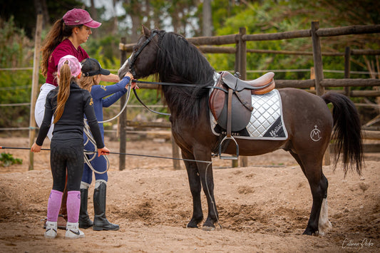
[[128, 71], [136, 79], [150, 76], [157, 72], [155, 70], [155, 61], [157, 58], [159, 33], [160, 31], [158, 30], [150, 31], [143, 26], [143, 35], [140, 36], [136, 45], [133, 46], [132, 54], [118, 71], [120, 79]]

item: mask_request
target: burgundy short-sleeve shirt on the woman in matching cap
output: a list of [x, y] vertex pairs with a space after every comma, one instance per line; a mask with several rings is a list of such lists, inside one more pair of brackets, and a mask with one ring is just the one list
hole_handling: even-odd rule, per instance
[[78, 49], [75, 48], [73, 43], [66, 38], [54, 49], [51, 56], [48, 58], [48, 73], [46, 76], [46, 83], [50, 83], [53, 86], [58, 86], [56, 77], [53, 76], [53, 73], [58, 71], [58, 62], [63, 56], [71, 54], [78, 59], [79, 62], [83, 61], [86, 58], [89, 58], [88, 53], [84, 51], [81, 46], [78, 46]]

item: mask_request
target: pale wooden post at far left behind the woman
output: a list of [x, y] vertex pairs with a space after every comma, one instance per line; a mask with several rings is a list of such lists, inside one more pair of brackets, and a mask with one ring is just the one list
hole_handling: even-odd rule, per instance
[[[34, 58], [33, 58], [33, 76], [31, 81], [31, 111], [29, 116], [29, 148], [34, 143], [36, 137], [36, 119], [34, 118], [34, 109], [36, 108], [36, 97], [38, 91], [38, 76], [40, 65], [40, 48], [42, 32], [42, 14], [37, 15], [36, 33], [34, 36]], [[29, 152], [29, 170], [34, 170], [34, 153]]]

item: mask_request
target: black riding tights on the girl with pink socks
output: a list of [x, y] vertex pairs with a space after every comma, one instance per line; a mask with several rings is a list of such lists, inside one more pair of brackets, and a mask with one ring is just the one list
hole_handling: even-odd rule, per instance
[[53, 190], [80, 190], [83, 174], [83, 140], [51, 140], [50, 166]]

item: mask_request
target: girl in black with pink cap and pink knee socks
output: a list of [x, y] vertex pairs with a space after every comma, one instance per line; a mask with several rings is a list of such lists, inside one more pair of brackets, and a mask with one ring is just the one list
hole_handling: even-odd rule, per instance
[[51, 138], [51, 174], [53, 189], [48, 199], [48, 220], [46, 238], [55, 238], [57, 234], [58, 212], [66, 181], [67, 167], [67, 213], [66, 238], [84, 237], [78, 229], [79, 209], [81, 205], [81, 177], [83, 173], [83, 114], [86, 115], [91, 133], [96, 140], [98, 155], [110, 152], [104, 146], [98, 120], [93, 110], [93, 100], [88, 91], [77, 85], [81, 77], [81, 63], [74, 56], [63, 56], [58, 63], [59, 86], [50, 91], [46, 97], [45, 114], [38, 131], [36, 143], [31, 152], [41, 151], [53, 117], [54, 130]]

